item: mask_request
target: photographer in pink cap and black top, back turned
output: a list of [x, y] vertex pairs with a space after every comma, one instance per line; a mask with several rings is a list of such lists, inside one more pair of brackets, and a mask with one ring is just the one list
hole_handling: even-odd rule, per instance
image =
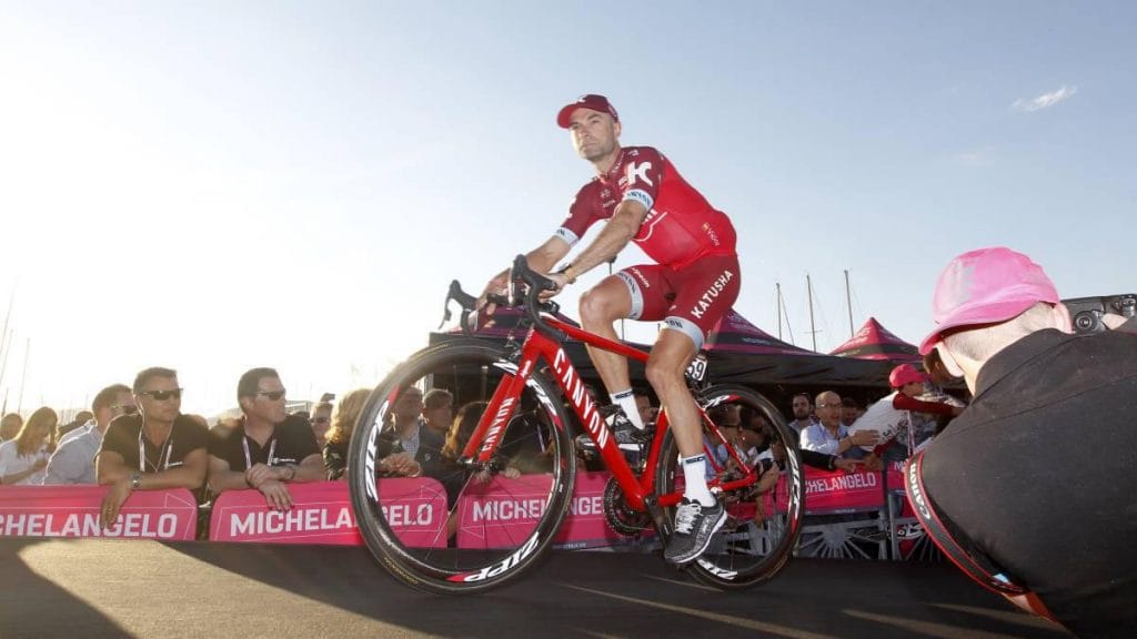
[[953, 259], [932, 314], [920, 352], [936, 349], [974, 400], [913, 462], [910, 498], [995, 579], [1032, 591], [1019, 598], [1037, 596], [1034, 612], [1081, 637], [1129, 637], [1137, 321], [1070, 334], [1041, 267], [1006, 248]]

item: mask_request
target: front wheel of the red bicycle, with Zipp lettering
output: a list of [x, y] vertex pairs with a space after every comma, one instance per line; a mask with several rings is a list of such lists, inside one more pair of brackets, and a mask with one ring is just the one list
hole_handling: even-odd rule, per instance
[[[491, 466], [471, 468], [428, 450], [418, 454], [422, 478], [377, 474], [398, 437], [406, 389], [445, 388], [459, 415], [473, 413], [476, 423], [484, 412], [478, 403], [488, 403], [515, 372], [499, 349], [462, 340], [412, 356], [371, 393], [352, 433], [348, 482], [367, 548], [399, 581], [430, 592], [478, 592], [521, 576], [554, 543], [576, 466], [559, 396], [540, 374], [529, 379], [520, 403], [499, 412]], [[460, 454], [470, 433], [450, 431]], [[506, 478], [508, 467], [521, 476]]]

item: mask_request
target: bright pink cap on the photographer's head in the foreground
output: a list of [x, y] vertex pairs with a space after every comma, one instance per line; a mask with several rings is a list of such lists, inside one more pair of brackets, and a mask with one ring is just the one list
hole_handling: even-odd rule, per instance
[[1057, 304], [1059, 291], [1029, 257], [1006, 247], [965, 252], [939, 274], [931, 300], [936, 330], [920, 342], [920, 355], [931, 352], [944, 331], [1005, 322], [1039, 301]]

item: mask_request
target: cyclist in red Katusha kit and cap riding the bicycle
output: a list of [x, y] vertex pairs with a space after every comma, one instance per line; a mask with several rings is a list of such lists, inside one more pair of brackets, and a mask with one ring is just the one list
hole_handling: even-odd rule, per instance
[[[587, 291], [580, 300], [587, 331], [616, 340], [616, 320], [664, 321], [652, 348], [647, 379], [665, 407], [679, 447], [686, 489], [675, 512], [674, 534], [664, 556], [677, 565], [695, 561], [727, 520], [704, 476], [699, 414], [687, 389], [684, 371], [715, 322], [738, 297], [740, 273], [735, 229], [722, 211], [688, 184], [659, 151], [620, 146], [621, 122], [604, 96], [583, 96], [557, 114], [571, 132], [576, 152], [596, 168], [596, 176], [576, 193], [568, 216], [545, 243], [531, 250], [529, 266], [549, 273], [597, 221], [599, 235], [567, 265], [549, 275], [559, 292], [588, 271], [613, 259], [636, 242], [657, 264], [625, 268]], [[499, 273], [479, 300], [508, 285]], [[555, 293], [554, 293], [555, 294]], [[620, 355], [589, 348], [616, 406], [612, 425], [621, 443], [647, 439], [632, 395], [628, 362]]]

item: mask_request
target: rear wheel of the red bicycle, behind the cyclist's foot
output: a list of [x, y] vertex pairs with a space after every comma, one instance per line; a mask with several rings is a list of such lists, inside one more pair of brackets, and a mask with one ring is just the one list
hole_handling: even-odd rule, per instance
[[[688, 569], [697, 580], [719, 588], [753, 586], [774, 576], [789, 559], [797, 542], [805, 497], [797, 439], [778, 409], [748, 388], [715, 385], [699, 395], [698, 404], [707, 412], [737, 407], [742, 418], [760, 415], [769, 423], [769, 457], [778, 464], [769, 475], [773, 483], [763, 487], [769, 489], [761, 495], [754, 495], [754, 487], [717, 495], [727, 506], [727, 523], [706, 553]], [[706, 441], [717, 441], [711, 433], [712, 424], [704, 420], [703, 428]], [[664, 435], [662, 447], [656, 484], [661, 495], [665, 495], [681, 489], [682, 470], [679, 468], [679, 450], [670, 431]], [[708, 447], [707, 454], [713, 453]], [[724, 473], [720, 470], [719, 479], [723, 479]], [[772, 479], [774, 474], [777, 480]], [[708, 481], [711, 479], [714, 478], [708, 478]], [[669, 509], [667, 516], [674, 517], [673, 508]]]

